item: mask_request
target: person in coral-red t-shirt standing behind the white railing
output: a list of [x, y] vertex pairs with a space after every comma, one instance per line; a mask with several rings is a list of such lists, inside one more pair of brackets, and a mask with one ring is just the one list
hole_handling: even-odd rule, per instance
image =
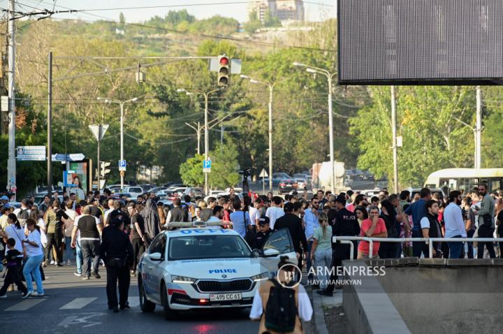
[[[388, 237], [388, 231], [386, 231], [386, 224], [384, 220], [379, 218], [379, 208], [372, 205], [369, 210], [369, 219], [365, 219], [361, 225], [361, 236], [363, 237]], [[379, 252], [379, 245], [381, 243], [374, 241], [372, 249], [372, 257], [378, 257], [377, 252]], [[368, 241], [361, 240], [358, 244], [358, 259], [368, 259], [370, 251], [370, 244]]]

